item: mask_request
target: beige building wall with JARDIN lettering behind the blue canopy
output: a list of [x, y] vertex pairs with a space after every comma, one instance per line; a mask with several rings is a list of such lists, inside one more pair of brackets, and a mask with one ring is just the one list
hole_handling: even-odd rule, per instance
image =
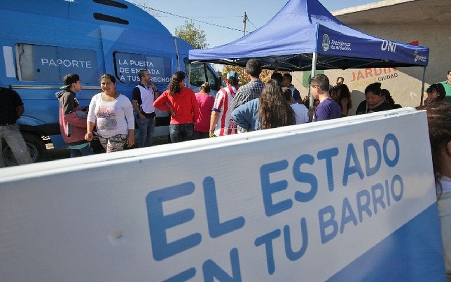
[[[339, 18], [339, 17], [338, 17]], [[425, 89], [432, 83], [446, 80], [446, 72], [451, 68], [451, 35], [444, 24], [350, 24], [351, 27], [368, 34], [398, 42], [419, 41], [420, 45], [430, 49], [429, 63], [426, 70]], [[336, 77], [344, 77], [345, 84], [353, 95], [354, 114], [359, 103], [364, 100], [365, 87], [373, 82], [381, 82], [382, 88], [391, 92], [396, 103], [406, 107], [417, 107], [421, 100], [421, 81], [423, 68], [368, 68], [348, 70], [327, 70], [331, 85]], [[301, 92], [308, 93], [308, 86], [303, 83], [303, 73], [293, 73], [293, 84]]]

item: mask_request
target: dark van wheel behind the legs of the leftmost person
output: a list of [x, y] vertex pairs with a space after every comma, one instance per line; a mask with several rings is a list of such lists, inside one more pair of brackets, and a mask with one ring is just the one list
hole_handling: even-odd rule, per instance
[[[22, 132], [23, 140], [27, 144], [30, 151], [31, 159], [33, 163], [41, 162], [44, 160], [46, 153], [46, 146], [40, 136], [34, 135], [28, 132]], [[17, 165], [16, 158], [14, 158], [13, 151], [9, 148], [8, 144], [3, 141], [3, 160], [6, 166]]]

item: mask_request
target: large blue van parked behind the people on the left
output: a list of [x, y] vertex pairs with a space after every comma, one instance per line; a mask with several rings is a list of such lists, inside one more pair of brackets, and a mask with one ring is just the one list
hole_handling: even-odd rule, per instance
[[[87, 106], [101, 91], [102, 73], [115, 74], [117, 91], [131, 98], [138, 71], [147, 69], [164, 91], [172, 73], [189, 73], [196, 90], [210, 82], [212, 93], [222, 86], [209, 64], [191, 64], [193, 46], [172, 36], [156, 18], [124, 0], [14, 0], [0, 1], [0, 86], [17, 91], [25, 112], [18, 119], [33, 161], [43, 160], [46, 143], [64, 147], [60, 135], [55, 92], [67, 73], [78, 73]], [[156, 136], [167, 136], [170, 117], [157, 110]], [[2, 141], [4, 142], [4, 141]], [[15, 163], [4, 143], [3, 158]]]

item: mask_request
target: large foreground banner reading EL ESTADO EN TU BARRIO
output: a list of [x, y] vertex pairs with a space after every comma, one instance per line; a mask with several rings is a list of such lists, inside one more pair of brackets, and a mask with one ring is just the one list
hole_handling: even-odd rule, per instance
[[5, 168], [0, 280], [440, 280], [436, 200], [414, 109]]

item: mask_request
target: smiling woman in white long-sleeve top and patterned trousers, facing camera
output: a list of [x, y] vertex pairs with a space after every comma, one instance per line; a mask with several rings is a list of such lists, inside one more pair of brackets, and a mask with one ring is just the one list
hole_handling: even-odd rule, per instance
[[96, 94], [89, 104], [87, 133], [85, 139], [92, 140], [94, 126], [99, 141], [107, 153], [124, 150], [135, 142], [133, 106], [124, 95], [116, 92], [116, 78], [106, 73], [100, 78], [101, 93]]

